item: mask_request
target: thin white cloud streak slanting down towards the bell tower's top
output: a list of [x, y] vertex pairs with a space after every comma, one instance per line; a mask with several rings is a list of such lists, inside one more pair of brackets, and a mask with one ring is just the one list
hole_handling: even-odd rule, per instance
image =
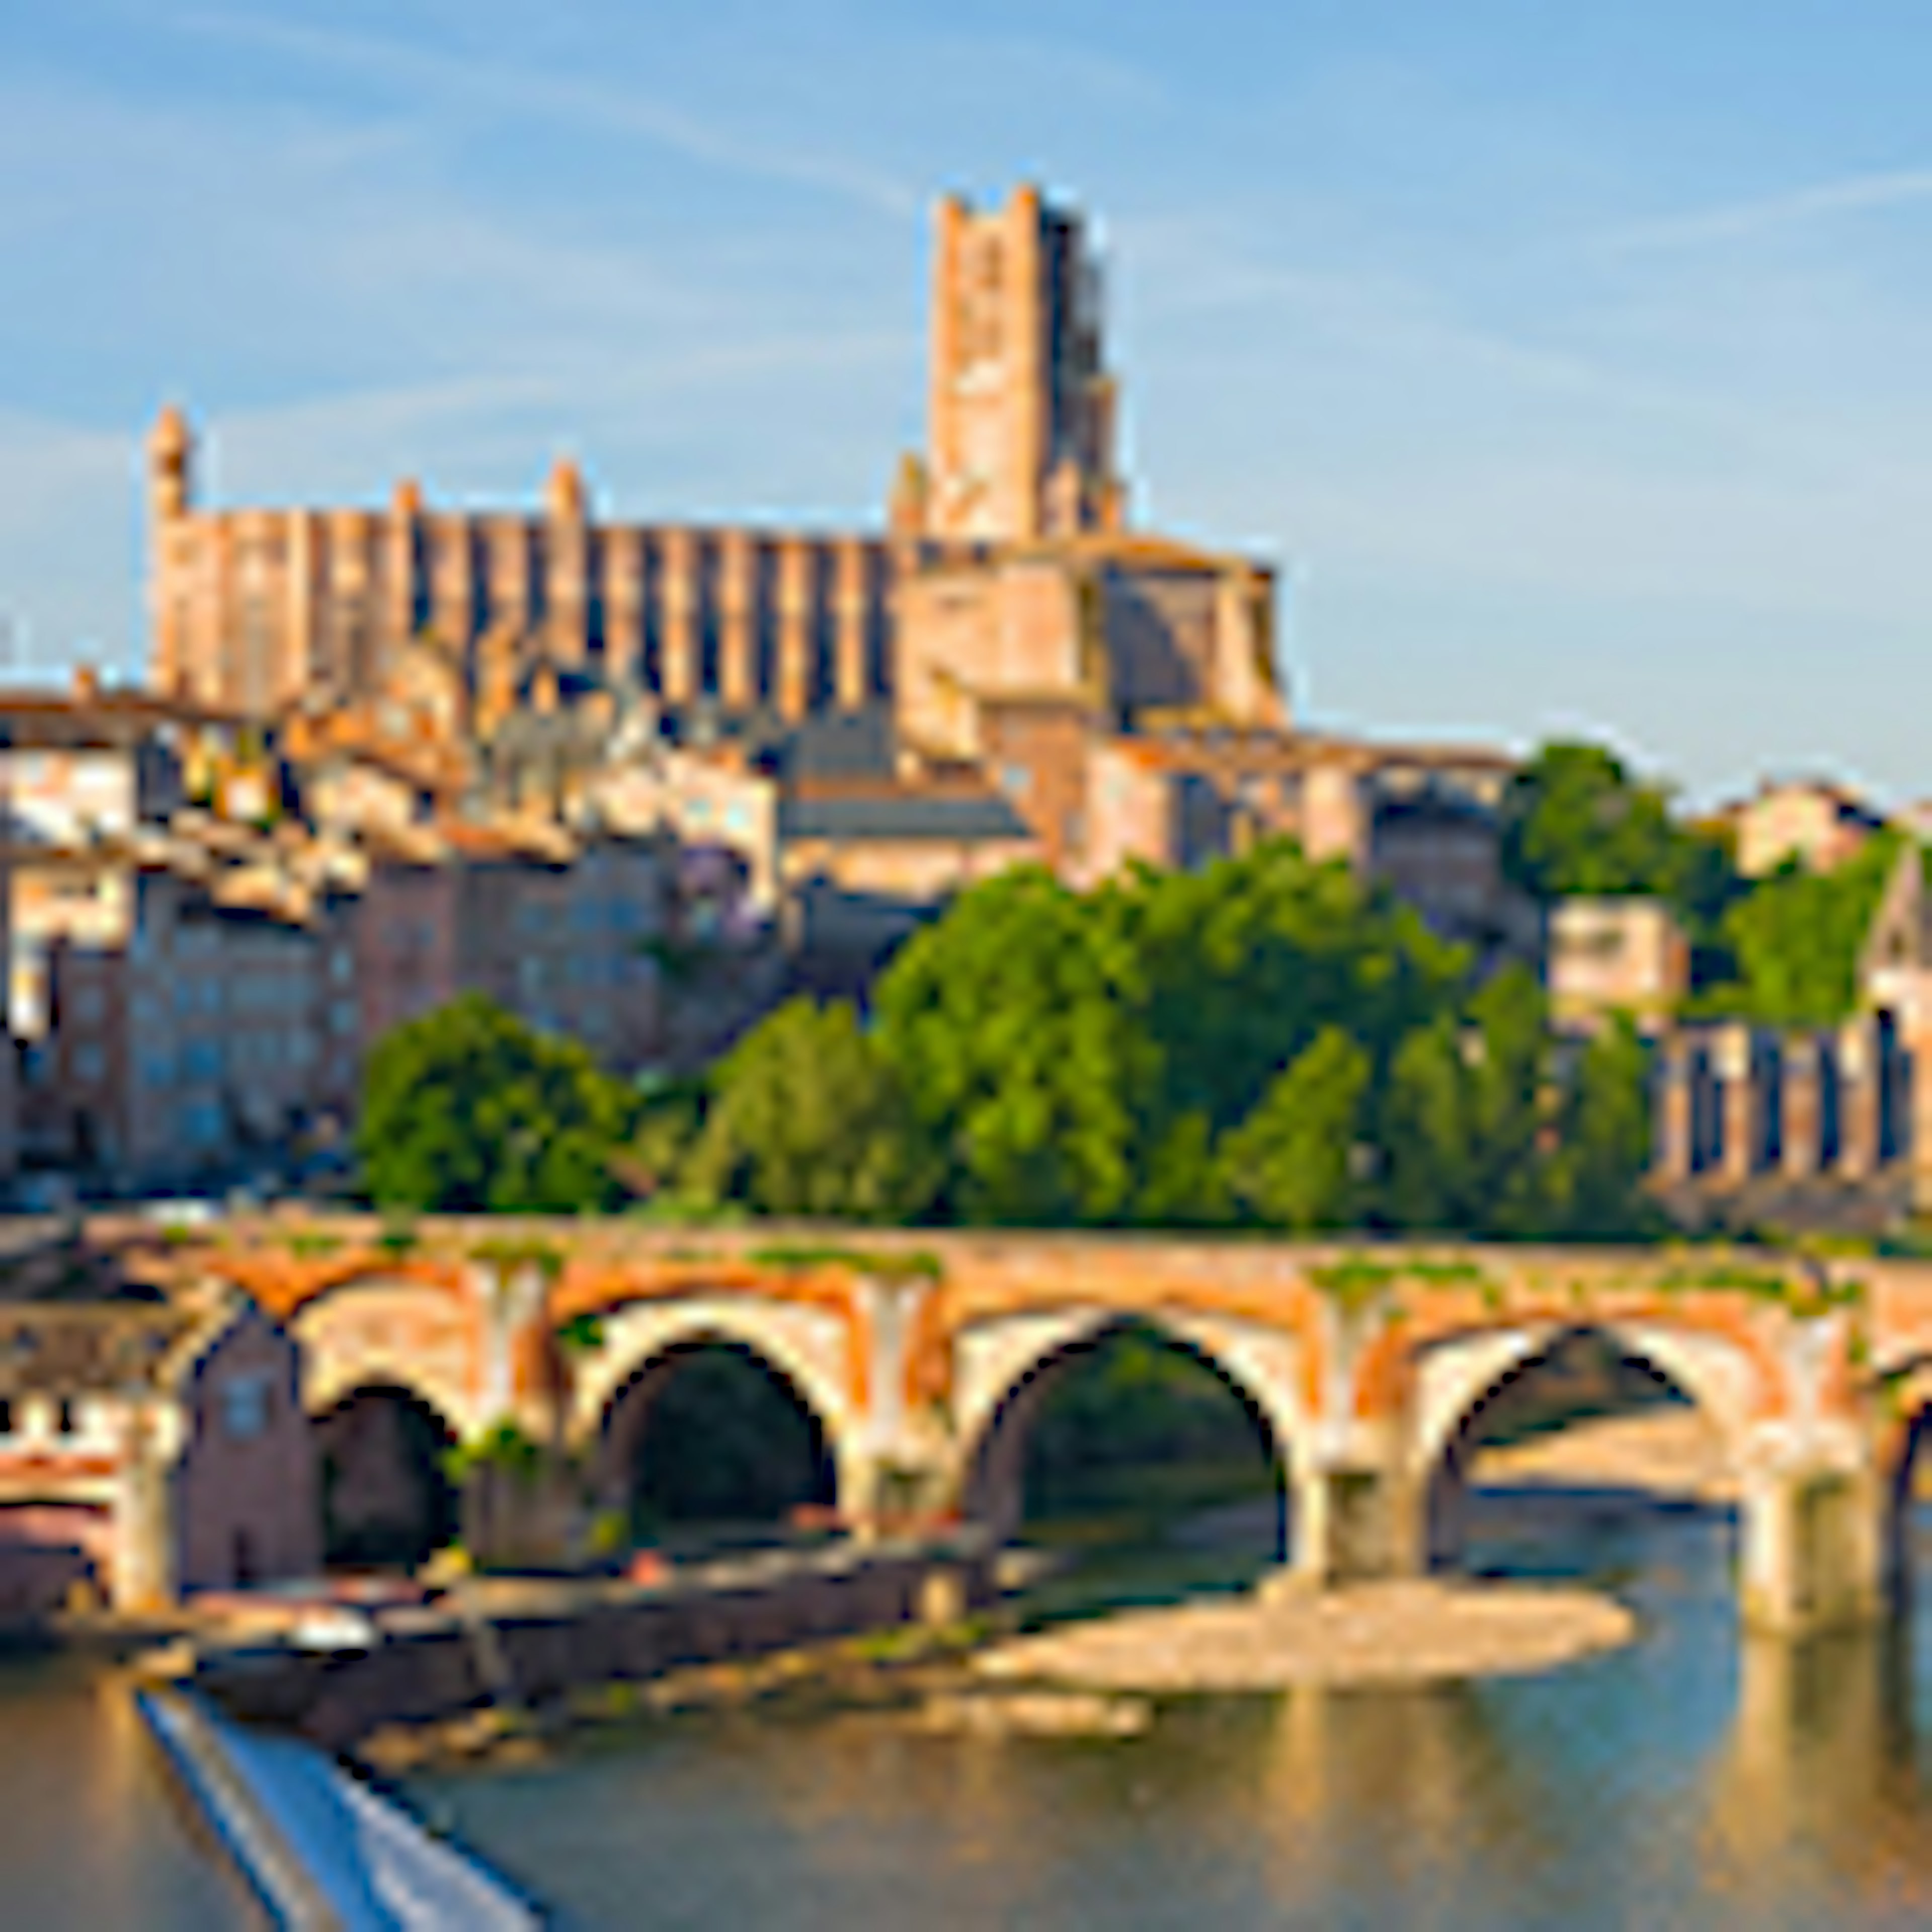
[[406, 41], [290, 21], [267, 21], [242, 14], [191, 12], [174, 21], [187, 33], [230, 44], [327, 62], [379, 81], [398, 81], [412, 89], [433, 87], [469, 104], [574, 128], [597, 126], [612, 133], [649, 141], [728, 174], [792, 187], [817, 189], [895, 218], [920, 207], [920, 193], [887, 174], [864, 168], [837, 155], [769, 147], [719, 124], [696, 116], [632, 87], [624, 91], [591, 81], [564, 79], [529, 68], [504, 68], [460, 54], [427, 52]]

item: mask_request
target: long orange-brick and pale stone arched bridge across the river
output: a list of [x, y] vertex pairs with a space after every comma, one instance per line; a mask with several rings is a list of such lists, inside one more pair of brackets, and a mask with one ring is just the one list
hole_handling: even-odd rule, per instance
[[1886, 1260], [263, 1219], [178, 1242], [168, 1267], [294, 1331], [311, 1412], [396, 1387], [456, 1437], [514, 1420], [603, 1480], [665, 1364], [738, 1345], [815, 1416], [862, 1528], [1010, 1528], [1041, 1393], [1111, 1327], [1148, 1323], [1265, 1424], [1289, 1559], [1318, 1580], [1426, 1565], [1484, 1405], [1598, 1331], [1718, 1430], [1741, 1607], [1772, 1631], [1878, 1613], [1932, 1414], [1932, 1265]]

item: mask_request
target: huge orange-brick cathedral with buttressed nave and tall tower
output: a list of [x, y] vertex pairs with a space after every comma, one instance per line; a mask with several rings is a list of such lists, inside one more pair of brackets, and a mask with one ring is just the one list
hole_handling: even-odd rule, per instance
[[1088, 883], [1279, 831], [1368, 866], [1383, 821], [1461, 850], [1503, 759], [1296, 732], [1273, 568], [1134, 527], [1078, 214], [1034, 187], [939, 205], [927, 384], [879, 527], [833, 533], [605, 522], [570, 464], [535, 512], [410, 481], [386, 508], [207, 506], [170, 408], [153, 682], [413, 761], [469, 808], [516, 804], [533, 746], [551, 781], [732, 755], [779, 786], [798, 864], [856, 895], [931, 900], [1016, 858]]

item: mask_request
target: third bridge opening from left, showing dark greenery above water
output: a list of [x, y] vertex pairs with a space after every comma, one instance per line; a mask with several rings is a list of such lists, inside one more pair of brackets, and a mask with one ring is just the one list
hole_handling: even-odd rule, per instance
[[[1119, 1567], [1122, 1594], [1235, 1586], [1289, 1548], [1285, 1457], [1254, 1397], [1151, 1321], [1113, 1321], [1037, 1362], [966, 1468], [968, 1519]], [[1128, 1553], [1134, 1553], [1128, 1559]]]

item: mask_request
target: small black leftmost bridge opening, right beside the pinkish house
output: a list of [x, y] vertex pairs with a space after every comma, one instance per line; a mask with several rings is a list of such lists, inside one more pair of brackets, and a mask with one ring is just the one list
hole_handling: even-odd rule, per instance
[[328, 1569], [413, 1571], [456, 1538], [456, 1435], [413, 1389], [373, 1383], [315, 1418]]

